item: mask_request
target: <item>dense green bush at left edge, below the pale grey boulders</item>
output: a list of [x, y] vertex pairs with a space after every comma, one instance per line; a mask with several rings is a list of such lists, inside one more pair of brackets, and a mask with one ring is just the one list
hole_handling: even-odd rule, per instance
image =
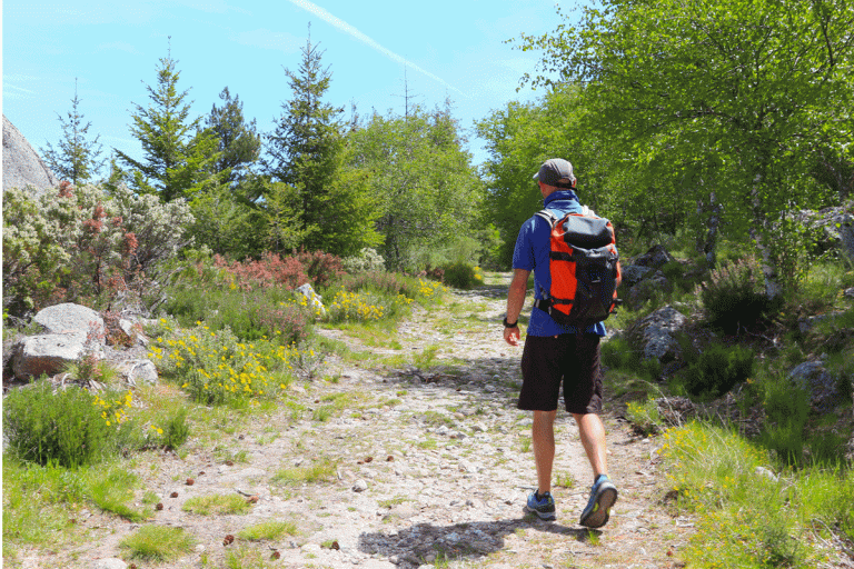
[[128, 393], [125, 400], [101, 399], [77, 387], [54, 393], [52, 383], [42, 378], [3, 400], [9, 448], [39, 465], [76, 468], [96, 462], [112, 450], [129, 398]]

